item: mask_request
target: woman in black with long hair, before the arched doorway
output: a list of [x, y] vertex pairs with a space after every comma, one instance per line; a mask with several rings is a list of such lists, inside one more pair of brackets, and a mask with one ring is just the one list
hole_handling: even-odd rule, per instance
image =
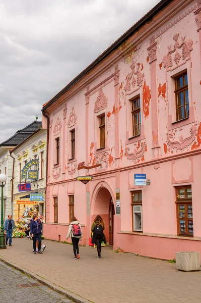
[[98, 257], [97, 259], [101, 259], [101, 243], [104, 240], [103, 230], [105, 229], [105, 225], [101, 216], [96, 216], [94, 222], [92, 223], [91, 231], [93, 232], [92, 242], [97, 245]]

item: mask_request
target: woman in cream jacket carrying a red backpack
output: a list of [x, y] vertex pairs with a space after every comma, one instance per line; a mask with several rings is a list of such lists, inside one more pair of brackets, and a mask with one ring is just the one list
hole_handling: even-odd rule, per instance
[[66, 235], [66, 239], [71, 237], [73, 243], [73, 251], [74, 251], [74, 260], [80, 259], [79, 255], [79, 240], [82, 241], [82, 227], [76, 217], [71, 218], [71, 223], [69, 224], [69, 231]]

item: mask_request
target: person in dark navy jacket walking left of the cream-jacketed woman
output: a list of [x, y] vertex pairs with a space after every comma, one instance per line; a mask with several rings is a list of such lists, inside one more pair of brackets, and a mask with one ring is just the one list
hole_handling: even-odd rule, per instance
[[38, 254], [42, 254], [41, 249], [41, 233], [42, 233], [42, 223], [38, 219], [38, 215], [34, 214], [33, 219], [30, 224], [31, 236], [33, 239], [33, 249], [34, 255], [36, 255], [36, 240], [38, 239]]

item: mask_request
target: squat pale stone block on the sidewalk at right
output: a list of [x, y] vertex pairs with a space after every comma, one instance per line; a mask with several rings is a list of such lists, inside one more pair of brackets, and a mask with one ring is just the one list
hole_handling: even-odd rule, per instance
[[176, 252], [176, 268], [182, 271], [200, 270], [200, 253], [195, 251]]

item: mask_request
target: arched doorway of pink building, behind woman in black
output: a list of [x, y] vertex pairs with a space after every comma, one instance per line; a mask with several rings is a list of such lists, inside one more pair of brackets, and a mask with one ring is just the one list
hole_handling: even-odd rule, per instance
[[92, 220], [97, 215], [100, 215], [105, 223], [104, 234], [107, 243], [113, 245], [114, 238], [114, 205], [113, 205], [113, 191], [106, 182], [97, 184], [94, 189], [91, 200], [91, 216]]

